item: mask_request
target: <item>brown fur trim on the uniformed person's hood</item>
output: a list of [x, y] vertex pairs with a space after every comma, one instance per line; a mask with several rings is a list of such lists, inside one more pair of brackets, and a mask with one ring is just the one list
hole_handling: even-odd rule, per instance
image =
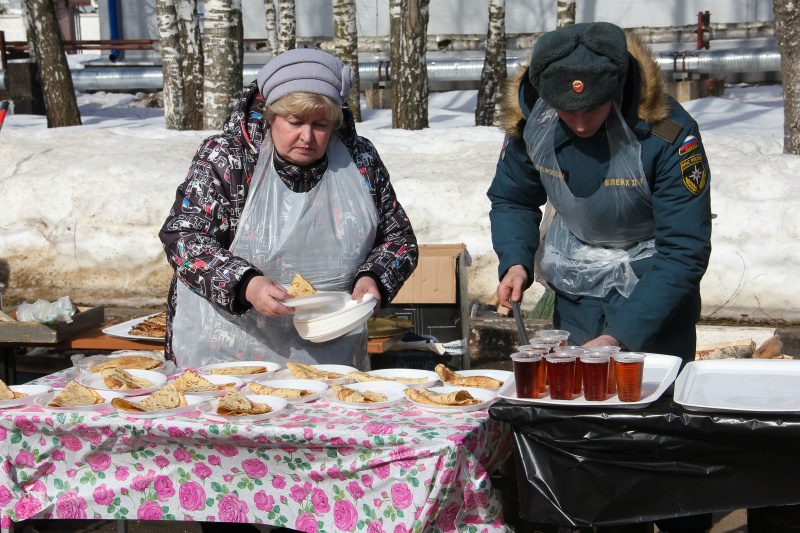
[[[653, 124], [664, 120], [670, 114], [670, 105], [664, 92], [664, 78], [661, 67], [653, 58], [650, 49], [632, 33], [625, 32], [628, 39], [628, 52], [639, 65], [639, 118]], [[525, 119], [519, 105], [519, 84], [528, 69], [528, 64], [520, 66], [508, 77], [503, 87], [498, 124], [509, 137], [522, 137], [519, 123]]]

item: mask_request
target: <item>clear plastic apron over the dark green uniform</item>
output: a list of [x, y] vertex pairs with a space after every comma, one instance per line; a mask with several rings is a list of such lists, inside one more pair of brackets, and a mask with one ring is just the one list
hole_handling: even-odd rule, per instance
[[653, 203], [641, 146], [612, 103], [606, 121], [608, 176], [594, 194], [578, 198], [556, 158], [557, 124], [556, 110], [540, 98], [524, 131], [528, 155], [556, 211], [546, 230], [542, 272], [548, 284], [567, 294], [602, 297], [616, 289], [627, 298], [639, 281], [630, 263], [655, 253]]

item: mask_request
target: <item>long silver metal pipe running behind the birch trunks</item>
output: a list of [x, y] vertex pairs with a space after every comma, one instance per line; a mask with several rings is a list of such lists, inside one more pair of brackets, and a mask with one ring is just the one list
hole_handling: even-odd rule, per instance
[[[527, 57], [506, 59], [509, 74], [527, 62]], [[734, 72], [780, 71], [781, 57], [777, 48], [752, 50], [693, 50], [662, 52], [656, 56], [664, 72], [691, 74], [724, 74]], [[361, 62], [358, 73], [363, 83], [391, 80], [387, 61]], [[246, 65], [242, 82], [256, 79], [261, 65]], [[478, 81], [481, 79], [483, 58], [429, 59], [429, 81]], [[109, 67], [72, 70], [72, 82], [78, 91], [157, 90], [163, 88], [161, 67]], [[0, 70], [0, 90], [7, 90], [5, 71]]]

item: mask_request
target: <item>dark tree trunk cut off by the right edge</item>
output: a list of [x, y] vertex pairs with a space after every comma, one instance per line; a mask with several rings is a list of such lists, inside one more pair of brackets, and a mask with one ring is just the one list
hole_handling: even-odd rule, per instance
[[800, 155], [800, 6], [774, 0], [773, 12], [783, 77], [783, 152]]

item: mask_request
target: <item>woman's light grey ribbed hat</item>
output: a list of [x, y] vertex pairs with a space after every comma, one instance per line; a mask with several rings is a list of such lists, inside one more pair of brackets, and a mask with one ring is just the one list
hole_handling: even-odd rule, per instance
[[296, 48], [275, 56], [258, 72], [258, 90], [267, 106], [289, 93], [327, 96], [338, 105], [350, 97], [353, 69], [322, 50]]

